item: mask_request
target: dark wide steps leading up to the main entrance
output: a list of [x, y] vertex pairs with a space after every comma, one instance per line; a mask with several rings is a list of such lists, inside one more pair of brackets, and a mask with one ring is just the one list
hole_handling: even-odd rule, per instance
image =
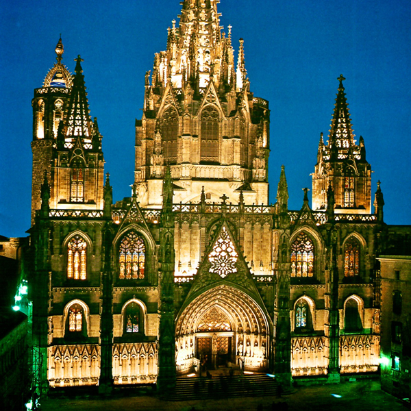
[[278, 383], [265, 374], [234, 375], [232, 377], [177, 378], [175, 390], [162, 395], [168, 401], [192, 399], [223, 399], [232, 397], [264, 397], [278, 394]]

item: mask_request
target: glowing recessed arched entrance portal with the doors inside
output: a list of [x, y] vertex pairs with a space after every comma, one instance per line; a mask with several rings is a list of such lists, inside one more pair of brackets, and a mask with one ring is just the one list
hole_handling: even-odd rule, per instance
[[179, 315], [175, 332], [179, 374], [199, 362], [249, 371], [268, 366], [269, 323], [256, 301], [237, 288], [218, 286], [199, 295]]

